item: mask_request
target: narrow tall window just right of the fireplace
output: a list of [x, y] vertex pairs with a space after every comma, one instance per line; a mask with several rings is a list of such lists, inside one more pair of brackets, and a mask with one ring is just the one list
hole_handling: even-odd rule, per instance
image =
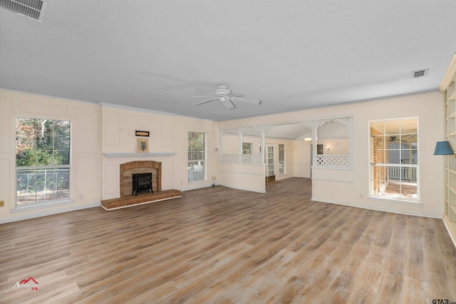
[[204, 133], [188, 133], [187, 181], [204, 181]]

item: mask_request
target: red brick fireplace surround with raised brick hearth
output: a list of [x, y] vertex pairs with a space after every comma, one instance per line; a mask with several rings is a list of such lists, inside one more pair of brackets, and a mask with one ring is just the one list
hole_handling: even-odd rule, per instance
[[[140, 193], [138, 196], [132, 195], [132, 175], [135, 173], [152, 173], [153, 193]], [[178, 190], [162, 191], [162, 163], [158, 161], [130, 161], [128, 163], [120, 164], [119, 183], [120, 198], [101, 201], [101, 206], [105, 208], [105, 210], [125, 208], [181, 197], [181, 192]]]

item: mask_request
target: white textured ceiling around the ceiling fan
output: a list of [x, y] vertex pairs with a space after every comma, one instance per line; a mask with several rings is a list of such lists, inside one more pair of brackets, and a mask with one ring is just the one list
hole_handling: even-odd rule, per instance
[[[0, 87], [217, 121], [435, 91], [455, 11], [455, 0], [49, 0], [42, 23], [0, 9]], [[219, 83], [262, 102], [192, 106]]]

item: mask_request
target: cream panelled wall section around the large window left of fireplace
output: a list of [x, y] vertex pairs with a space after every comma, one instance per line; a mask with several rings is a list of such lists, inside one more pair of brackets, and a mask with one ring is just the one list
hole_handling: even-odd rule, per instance
[[[71, 203], [14, 212], [17, 116], [71, 121]], [[95, 103], [0, 90], [0, 223], [100, 206], [100, 118]]]

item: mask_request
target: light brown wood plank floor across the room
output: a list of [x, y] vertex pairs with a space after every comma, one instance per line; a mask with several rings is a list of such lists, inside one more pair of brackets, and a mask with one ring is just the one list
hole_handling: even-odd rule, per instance
[[441, 220], [310, 201], [310, 183], [0, 225], [0, 303], [456, 301]]

